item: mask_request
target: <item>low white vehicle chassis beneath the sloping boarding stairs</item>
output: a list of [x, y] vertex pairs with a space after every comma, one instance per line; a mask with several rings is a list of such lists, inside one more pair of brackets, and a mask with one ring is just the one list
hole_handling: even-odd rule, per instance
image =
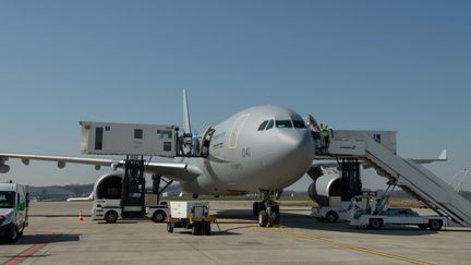
[[354, 196], [349, 207], [349, 224], [372, 229], [381, 229], [386, 225], [416, 225], [422, 230], [435, 231], [447, 226], [446, 217], [421, 216], [410, 208], [389, 208], [388, 200], [388, 195]]

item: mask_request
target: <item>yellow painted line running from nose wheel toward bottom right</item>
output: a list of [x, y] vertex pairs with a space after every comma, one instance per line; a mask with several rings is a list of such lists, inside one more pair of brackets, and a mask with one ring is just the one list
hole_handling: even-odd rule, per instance
[[430, 265], [431, 263], [427, 262], [422, 262], [419, 260], [413, 260], [413, 258], [409, 258], [406, 256], [400, 256], [400, 255], [395, 255], [395, 254], [389, 254], [386, 252], [382, 252], [382, 251], [375, 251], [375, 250], [370, 250], [366, 248], [361, 248], [361, 246], [355, 246], [355, 245], [351, 245], [351, 244], [346, 244], [346, 243], [340, 243], [330, 239], [326, 239], [326, 238], [321, 238], [317, 236], [306, 236], [306, 234], [301, 234], [301, 233], [297, 233], [297, 232], [291, 232], [291, 231], [287, 231], [285, 229], [277, 229], [278, 232], [280, 233], [286, 233], [295, 238], [301, 238], [301, 239], [309, 239], [309, 240], [314, 240], [317, 242], [322, 242], [322, 243], [326, 243], [326, 244], [330, 244], [337, 248], [341, 248], [341, 249], [349, 249], [349, 250], [354, 250], [354, 251], [360, 251], [360, 252], [364, 252], [364, 253], [369, 253], [372, 255], [377, 255], [377, 256], [383, 256], [383, 257], [388, 257], [388, 258], [392, 258], [392, 260], [397, 260], [397, 261], [402, 261], [402, 262], [407, 262], [407, 263], [411, 263], [411, 264], [418, 264], [418, 265]]

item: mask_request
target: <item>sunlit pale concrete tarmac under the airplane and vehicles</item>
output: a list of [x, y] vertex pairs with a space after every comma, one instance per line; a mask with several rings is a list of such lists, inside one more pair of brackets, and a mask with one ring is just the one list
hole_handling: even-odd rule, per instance
[[[2, 264], [471, 264], [471, 229], [369, 230], [318, 222], [309, 207], [282, 206], [281, 226], [259, 228], [252, 202], [210, 202], [212, 236], [147, 219], [94, 221], [90, 202], [36, 202]], [[83, 210], [84, 221], [78, 220]], [[219, 228], [218, 228], [219, 227]], [[219, 230], [220, 229], [220, 230]]]

